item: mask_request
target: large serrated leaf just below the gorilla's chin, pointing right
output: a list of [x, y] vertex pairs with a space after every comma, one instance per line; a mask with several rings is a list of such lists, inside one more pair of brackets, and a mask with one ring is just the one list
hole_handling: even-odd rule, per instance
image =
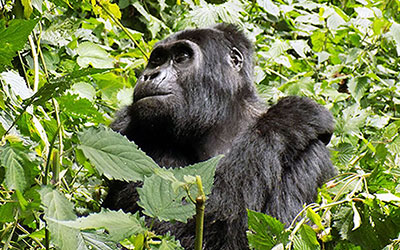
[[109, 128], [91, 128], [80, 134], [83, 153], [109, 179], [144, 180], [158, 165], [126, 137]]

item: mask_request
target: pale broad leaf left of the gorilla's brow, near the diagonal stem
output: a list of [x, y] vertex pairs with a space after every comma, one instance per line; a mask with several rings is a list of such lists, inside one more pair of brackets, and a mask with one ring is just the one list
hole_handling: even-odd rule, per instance
[[94, 68], [107, 69], [113, 68], [112, 57], [99, 45], [92, 42], [83, 42], [77, 48], [77, 63], [82, 68], [92, 65]]

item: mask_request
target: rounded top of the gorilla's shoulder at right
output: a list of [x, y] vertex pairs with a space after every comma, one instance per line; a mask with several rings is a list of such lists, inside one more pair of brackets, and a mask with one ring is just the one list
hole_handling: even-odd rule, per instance
[[289, 96], [262, 113], [256, 121], [255, 130], [262, 137], [278, 136], [304, 146], [315, 139], [328, 144], [334, 120], [332, 114], [315, 101]]

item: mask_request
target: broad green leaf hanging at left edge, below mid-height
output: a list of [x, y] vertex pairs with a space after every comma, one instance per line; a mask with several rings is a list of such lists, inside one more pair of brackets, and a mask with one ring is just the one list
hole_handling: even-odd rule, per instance
[[6, 169], [5, 184], [7, 188], [23, 191], [27, 185], [23, 167], [28, 159], [27, 155], [18, 148], [6, 146], [1, 151], [0, 159], [1, 165]]

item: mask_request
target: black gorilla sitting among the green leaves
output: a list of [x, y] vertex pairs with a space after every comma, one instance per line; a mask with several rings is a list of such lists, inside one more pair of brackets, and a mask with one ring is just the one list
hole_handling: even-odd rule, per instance
[[[326, 148], [330, 112], [302, 97], [267, 107], [252, 58], [252, 43], [230, 24], [175, 33], [155, 45], [133, 103], [111, 125], [161, 166], [225, 155], [206, 204], [204, 249], [248, 249], [246, 209], [290, 223], [336, 173]], [[112, 181], [103, 206], [140, 211], [138, 186]], [[154, 230], [194, 246], [194, 220]]]

